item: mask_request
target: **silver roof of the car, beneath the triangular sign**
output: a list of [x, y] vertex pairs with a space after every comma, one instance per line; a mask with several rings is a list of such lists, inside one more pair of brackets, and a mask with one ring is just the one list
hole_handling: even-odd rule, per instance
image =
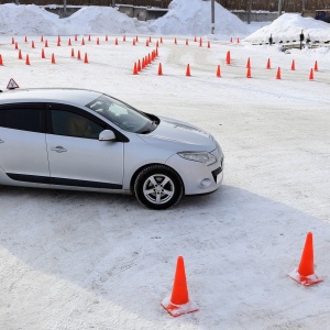
[[0, 105], [19, 102], [58, 102], [86, 106], [102, 92], [79, 88], [31, 88], [0, 92]]

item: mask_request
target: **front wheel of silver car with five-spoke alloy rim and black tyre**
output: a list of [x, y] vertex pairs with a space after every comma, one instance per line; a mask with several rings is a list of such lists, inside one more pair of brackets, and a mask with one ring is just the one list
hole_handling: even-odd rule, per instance
[[164, 165], [151, 165], [143, 168], [134, 183], [138, 200], [155, 210], [167, 209], [176, 205], [184, 195], [180, 177]]

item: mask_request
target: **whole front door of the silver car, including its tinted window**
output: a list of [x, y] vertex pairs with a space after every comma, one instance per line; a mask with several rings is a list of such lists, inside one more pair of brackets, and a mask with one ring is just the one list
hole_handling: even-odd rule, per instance
[[123, 143], [99, 141], [105, 129], [107, 123], [82, 109], [47, 105], [46, 143], [52, 184], [122, 189]]

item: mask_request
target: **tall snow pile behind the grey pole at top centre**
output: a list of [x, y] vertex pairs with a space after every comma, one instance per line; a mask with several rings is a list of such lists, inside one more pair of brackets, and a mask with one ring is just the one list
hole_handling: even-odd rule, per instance
[[[216, 2], [218, 36], [245, 34], [246, 24]], [[211, 2], [202, 0], [174, 0], [169, 11], [151, 24], [152, 31], [162, 34], [204, 35], [211, 32]]]

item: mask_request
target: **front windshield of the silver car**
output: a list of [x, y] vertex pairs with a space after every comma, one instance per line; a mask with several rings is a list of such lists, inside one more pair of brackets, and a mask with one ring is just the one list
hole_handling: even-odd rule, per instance
[[86, 106], [101, 114], [124, 131], [132, 133], [150, 133], [157, 127], [158, 120], [147, 116], [131, 106], [102, 95]]

